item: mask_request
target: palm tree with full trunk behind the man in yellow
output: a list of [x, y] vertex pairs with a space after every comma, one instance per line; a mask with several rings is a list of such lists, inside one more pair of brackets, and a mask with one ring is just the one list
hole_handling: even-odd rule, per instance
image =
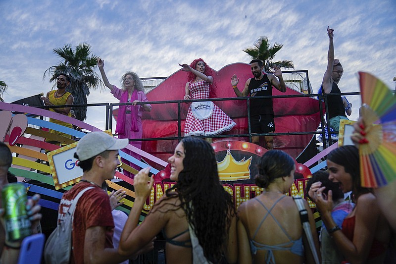
[[[71, 84], [66, 87], [66, 91], [73, 95], [74, 104], [87, 104], [90, 89], [96, 90], [98, 86], [103, 87], [98, 74], [93, 70], [97, 66], [99, 57], [91, 55], [91, 45], [87, 43], [80, 43], [74, 51], [70, 44], [66, 44], [62, 48], [54, 49], [53, 53], [64, 61], [49, 67], [44, 72], [43, 79], [46, 77], [46, 73], [51, 75], [49, 82], [55, 80], [59, 73], [69, 75]], [[73, 110], [77, 119], [84, 121], [87, 118], [87, 106], [73, 107]]]

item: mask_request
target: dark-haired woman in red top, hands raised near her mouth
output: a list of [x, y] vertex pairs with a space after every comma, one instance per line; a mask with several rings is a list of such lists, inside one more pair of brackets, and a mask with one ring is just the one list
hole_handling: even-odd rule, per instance
[[331, 215], [331, 191], [324, 199], [325, 187], [315, 182], [309, 196], [316, 203], [327, 231], [348, 263], [384, 263], [391, 229], [381, 212], [372, 189], [361, 186], [359, 150], [355, 146], [342, 146], [327, 156], [329, 179], [337, 182], [344, 192], [352, 191], [355, 203], [342, 226]]

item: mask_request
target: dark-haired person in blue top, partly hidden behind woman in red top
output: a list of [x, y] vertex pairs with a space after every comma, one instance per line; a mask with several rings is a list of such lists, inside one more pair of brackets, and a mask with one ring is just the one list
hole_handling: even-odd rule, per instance
[[[332, 200], [333, 200], [333, 210], [331, 211], [331, 215], [338, 226], [343, 225], [343, 221], [345, 217], [352, 211], [354, 208], [354, 204], [351, 200], [344, 200], [344, 193], [340, 189], [340, 185], [336, 182], [332, 182], [329, 180], [329, 173], [324, 171], [317, 171], [312, 175], [306, 184], [306, 192], [307, 196], [310, 200], [311, 197], [309, 195], [309, 191], [311, 185], [315, 182], [320, 182], [322, 187], [326, 187], [323, 190], [323, 198], [328, 199], [328, 192], [332, 192]], [[313, 195], [313, 192], [311, 192]], [[340, 264], [344, 261], [344, 257], [342, 253], [337, 249], [334, 240], [327, 232], [327, 229], [322, 223], [322, 227], [320, 229], [320, 253], [322, 256], [322, 264]]]

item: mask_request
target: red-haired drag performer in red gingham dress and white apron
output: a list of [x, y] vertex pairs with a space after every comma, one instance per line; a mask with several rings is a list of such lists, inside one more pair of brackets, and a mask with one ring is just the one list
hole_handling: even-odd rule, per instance
[[[179, 64], [187, 71], [185, 100], [208, 99], [213, 84], [213, 71], [198, 58], [190, 66]], [[231, 130], [236, 123], [213, 102], [193, 102], [184, 126], [185, 136], [213, 136]]]

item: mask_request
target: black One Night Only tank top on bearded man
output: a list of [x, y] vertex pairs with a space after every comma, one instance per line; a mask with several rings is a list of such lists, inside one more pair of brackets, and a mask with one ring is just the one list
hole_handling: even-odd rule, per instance
[[[250, 97], [272, 95], [272, 84], [269, 81], [267, 74], [264, 74], [261, 80], [251, 78], [248, 89]], [[250, 100], [250, 115], [254, 116], [260, 114], [271, 115], [272, 117], [274, 116], [272, 98]]]

